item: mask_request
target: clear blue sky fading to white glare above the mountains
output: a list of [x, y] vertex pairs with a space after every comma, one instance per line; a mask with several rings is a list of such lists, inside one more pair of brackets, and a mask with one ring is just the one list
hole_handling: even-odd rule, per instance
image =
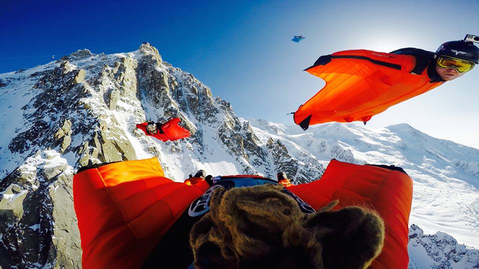
[[[479, 1], [25, 1], [0, 8], [0, 73], [88, 48], [136, 50], [148, 41], [194, 74], [238, 116], [292, 124], [286, 113], [321, 79], [304, 71], [344, 49], [436, 48], [479, 35]], [[293, 35], [306, 39], [294, 43]], [[372, 118], [367, 128], [408, 123], [479, 148], [479, 68]], [[298, 127], [299, 128], [299, 127]]]

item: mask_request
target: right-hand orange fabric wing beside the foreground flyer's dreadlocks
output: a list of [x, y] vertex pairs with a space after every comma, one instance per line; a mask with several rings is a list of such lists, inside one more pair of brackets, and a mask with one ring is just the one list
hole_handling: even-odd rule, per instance
[[331, 160], [320, 180], [287, 189], [316, 210], [333, 200], [339, 200], [334, 209], [364, 206], [376, 210], [384, 220], [386, 237], [370, 268], [408, 268], [413, 182], [406, 173]]

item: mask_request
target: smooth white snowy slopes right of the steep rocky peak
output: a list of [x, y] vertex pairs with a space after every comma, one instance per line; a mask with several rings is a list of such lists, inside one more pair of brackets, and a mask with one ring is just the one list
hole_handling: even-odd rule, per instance
[[307, 150], [325, 167], [335, 158], [404, 168], [414, 181], [409, 268], [479, 268], [478, 149], [433, 138], [407, 124], [368, 130], [329, 123], [302, 132], [264, 120], [249, 123], [263, 143], [277, 139], [291, 154]]

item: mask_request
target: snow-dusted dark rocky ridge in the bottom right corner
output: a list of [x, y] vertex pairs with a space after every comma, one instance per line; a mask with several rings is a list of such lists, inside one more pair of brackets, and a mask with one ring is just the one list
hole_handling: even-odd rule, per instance
[[448, 234], [437, 232], [424, 235], [421, 228], [409, 228], [409, 269], [476, 269], [479, 268], [479, 251], [468, 249]]

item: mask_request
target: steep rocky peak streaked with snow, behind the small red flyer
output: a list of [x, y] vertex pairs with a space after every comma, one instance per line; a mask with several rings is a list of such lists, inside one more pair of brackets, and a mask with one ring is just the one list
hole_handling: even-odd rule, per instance
[[[72, 178], [87, 164], [157, 155], [167, 176], [183, 180], [178, 171], [187, 175], [221, 150], [242, 174], [284, 171], [304, 182], [324, 170], [280, 141], [261, 142], [229, 102], [148, 43], [113, 55], [78, 50], [3, 75], [0, 94], [21, 115], [0, 144], [0, 267], [81, 268]], [[192, 136], [161, 143], [135, 128], [171, 117]]]

